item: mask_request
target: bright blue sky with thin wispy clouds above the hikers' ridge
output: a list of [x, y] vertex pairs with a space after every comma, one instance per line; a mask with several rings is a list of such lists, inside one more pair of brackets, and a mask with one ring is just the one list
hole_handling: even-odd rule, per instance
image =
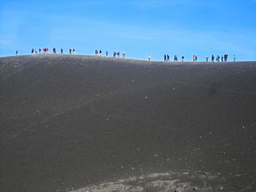
[[256, 0], [0, 0], [0, 57], [44, 47], [256, 61]]

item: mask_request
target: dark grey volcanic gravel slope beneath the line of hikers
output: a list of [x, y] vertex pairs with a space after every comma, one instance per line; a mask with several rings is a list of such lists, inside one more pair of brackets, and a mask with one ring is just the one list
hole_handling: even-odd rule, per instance
[[0, 191], [256, 191], [256, 62], [0, 58]]

